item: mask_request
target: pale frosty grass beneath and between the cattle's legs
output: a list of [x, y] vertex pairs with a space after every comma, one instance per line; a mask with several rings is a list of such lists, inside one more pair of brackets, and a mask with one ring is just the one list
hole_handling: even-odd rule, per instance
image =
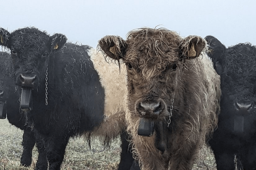
[[[33, 149], [32, 164], [29, 168], [20, 166], [23, 132], [10, 125], [7, 119], [0, 119], [0, 170], [33, 170], [37, 160], [37, 149]], [[95, 139], [91, 150], [83, 138], [70, 139], [66, 148], [62, 170], [115, 170], [119, 163], [120, 141], [114, 141], [105, 149], [102, 142]], [[199, 155], [193, 170], [216, 170], [212, 153]]]

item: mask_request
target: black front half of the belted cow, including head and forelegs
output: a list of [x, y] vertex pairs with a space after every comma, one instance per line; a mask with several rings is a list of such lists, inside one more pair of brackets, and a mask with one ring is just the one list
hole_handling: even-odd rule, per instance
[[[49, 169], [58, 170], [69, 138], [94, 130], [103, 119], [105, 94], [87, 53], [90, 47], [36, 28], [12, 33], [1, 28], [0, 38], [11, 50], [26, 123], [35, 132], [37, 147], [45, 148]], [[44, 165], [37, 169], [46, 170]]]

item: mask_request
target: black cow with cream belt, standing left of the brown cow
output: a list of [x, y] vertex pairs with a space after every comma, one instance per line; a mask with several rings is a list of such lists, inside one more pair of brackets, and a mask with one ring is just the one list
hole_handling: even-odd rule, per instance
[[[0, 44], [12, 52], [17, 91], [32, 90], [33, 109], [22, 114], [35, 133], [38, 150], [45, 151], [42, 157], [46, 160], [47, 156], [50, 170], [60, 169], [70, 137], [86, 135], [90, 140], [91, 135], [99, 135], [108, 143], [119, 134], [126, 136], [122, 104], [125, 78], [114, 71], [116, 67], [102, 62], [103, 56], [92, 52], [93, 63], [89, 46], [66, 43], [64, 35], [49, 36], [36, 28], [13, 33], [1, 29], [0, 36]], [[105, 77], [111, 77], [111, 83]], [[120, 84], [112, 86], [112, 82]], [[101, 83], [106, 84], [103, 87]], [[133, 159], [127, 152], [129, 143], [122, 139], [121, 164], [126, 158], [129, 163], [120, 164], [119, 169], [130, 169]], [[36, 169], [47, 169], [47, 160], [38, 163]]]

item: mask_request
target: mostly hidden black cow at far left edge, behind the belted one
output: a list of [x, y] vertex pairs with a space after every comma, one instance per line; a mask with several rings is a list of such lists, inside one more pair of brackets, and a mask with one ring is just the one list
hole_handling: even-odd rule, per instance
[[[10, 55], [6, 52], [0, 52], [0, 61], [0, 118], [5, 119], [7, 115], [7, 119], [12, 125], [23, 130], [23, 152], [20, 163], [23, 166], [30, 166], [32, 162], [32, 149], [35, 145], [35, 136], [31, 128], [26, 126], [24, 113], [19, 112], [19, 95], [15, 90], [15, 84], [12, 79]], [[39, 155], [41, 155], [40, 151]], [[38, 163], [45, 162], [47, 165], [46, 157], [39, 156], [38, 159]]]

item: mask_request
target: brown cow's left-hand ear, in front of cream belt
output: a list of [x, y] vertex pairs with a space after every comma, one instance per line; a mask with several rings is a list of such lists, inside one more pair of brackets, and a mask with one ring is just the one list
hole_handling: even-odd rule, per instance
[[105, 58], [110, 57], [119, 63], [121, 58], [124, 59], [127, 46], [128, 45], [123, 38], [108, 35], [98, 41], [97, 48], [105, 54]]

